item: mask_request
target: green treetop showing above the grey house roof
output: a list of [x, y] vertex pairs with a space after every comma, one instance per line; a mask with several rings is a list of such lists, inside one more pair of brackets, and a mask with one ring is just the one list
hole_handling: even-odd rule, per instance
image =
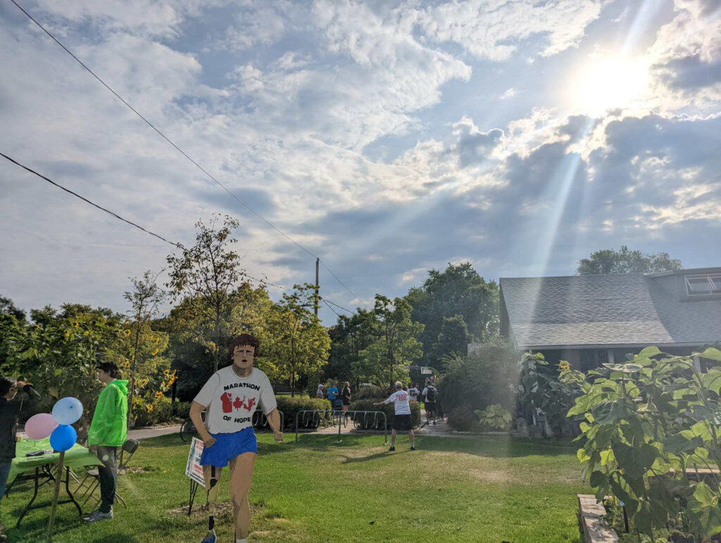
[[578, 261], [577, 275], [600, 275], [608, 273], [653, 273], [665, 270], [681, 270], [681, 260], [668, 256], [668, 252], [655, 255], [629, 250], [625, 245], [620, 251], [602, 249], [590, 257]]

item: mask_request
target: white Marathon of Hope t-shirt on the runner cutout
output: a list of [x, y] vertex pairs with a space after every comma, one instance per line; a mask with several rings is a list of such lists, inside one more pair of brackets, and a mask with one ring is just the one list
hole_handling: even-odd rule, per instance
[[205, 425], [210, 433], [241, 431], [252, 426], [256, 406], [266, 415], [278, 407], [267, 375], [253, 368], [249, 376], [239, 377], [232, 366], [216, 371], [193, 401], [208, 407]]

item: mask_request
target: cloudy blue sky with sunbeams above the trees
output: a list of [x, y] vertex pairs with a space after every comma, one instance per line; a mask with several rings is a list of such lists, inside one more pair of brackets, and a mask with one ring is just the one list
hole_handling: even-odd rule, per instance
[[[9, 1], [0, 151], [173, 242], [230, 214], [249, 275], [312, 283], [317, 255], [322, 296], [371, 309], [448, 262], [721, 265], [721, 0], [17, 1], [238, 199]], [[18, 306], [125, 312], [173, 250], [0, 157]]]

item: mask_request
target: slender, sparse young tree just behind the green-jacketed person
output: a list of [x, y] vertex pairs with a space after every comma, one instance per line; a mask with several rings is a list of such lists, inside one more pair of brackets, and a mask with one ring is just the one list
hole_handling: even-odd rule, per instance
[[157, 278], [158, 274], [153, 275], [150, 270], [143, 274], [142, 279], [131, 278], [133, 290], [126, 291], [123, 295], [131, 304], [131, 320], [126, 321], [126, 325], [128, 325], [127, 332], [129, 333], [125, 334], [130, 339], [127, 353], [131, 371], [128, 428], [135, 425], [133, 408], [135, 406], [138, 368], [146, 370], [144, 373], [151, 373], [152, 371], [148, 371], [151, 368], [146, 367], [148, 366], [147, 361], [157, 356], [161, 349], [165, 350], [168, 343], [167, 335], [154, 332], [150, 325], [151, 319], [158, 312], [158, 306], [165, 299], [165, 293], [156, 284]]

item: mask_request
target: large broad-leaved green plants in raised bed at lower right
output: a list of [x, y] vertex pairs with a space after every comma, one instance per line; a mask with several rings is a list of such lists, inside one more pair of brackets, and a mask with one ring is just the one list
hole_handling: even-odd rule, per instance
[[676, 516], [699, 537], [721, 533], [718, 480], [684, 476], [721, 466], [721, 368], [704, 374], [694, 358], [721, 361], [721, 351], [684, 357], [650, 347], [628, 363], [605, 364], [589, 372], [593, 382], [584, 380], [568, 412], [583, 420], [578, 459], [596, 495], [613, 493], [652, 538]]

